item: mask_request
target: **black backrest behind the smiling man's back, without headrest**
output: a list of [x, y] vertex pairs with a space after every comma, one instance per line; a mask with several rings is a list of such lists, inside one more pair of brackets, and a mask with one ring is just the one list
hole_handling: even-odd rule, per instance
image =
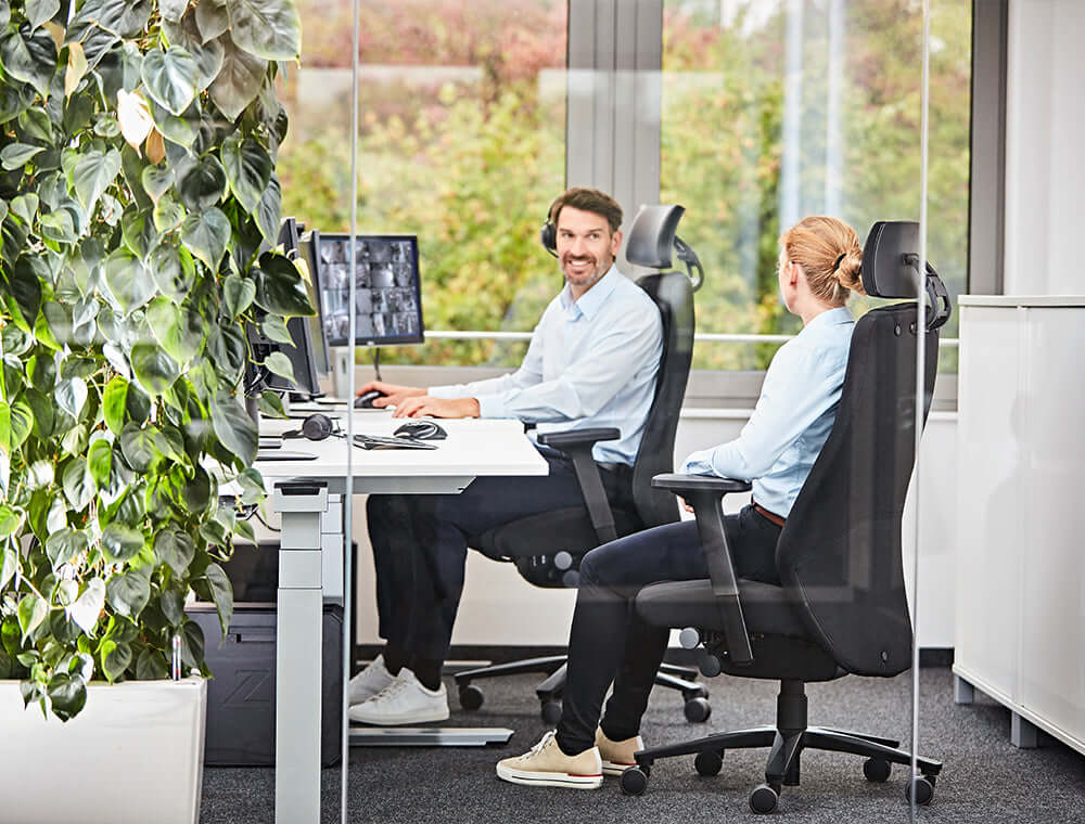
[[654, 527], [678, 520], [675, 497], [666, 490], [653, 489], [652, 477], [674, 472], [675, 432], [693, 355], [693, 292], [682, 272], [648, 274], [637, 284], [659, 307], [663, 320], [663, 356], [655, 395], [633, 464], [637, 516], [644, 527]]

